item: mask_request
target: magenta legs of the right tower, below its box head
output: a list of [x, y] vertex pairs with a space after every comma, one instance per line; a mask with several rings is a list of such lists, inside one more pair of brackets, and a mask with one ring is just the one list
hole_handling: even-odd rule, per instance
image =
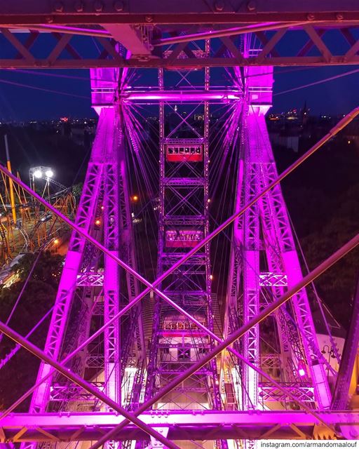
[[[249, 107], [248, 116], [243, 126], [245, 138], [245, 199], [244, 203], [250, 201], [258, 191], [271, 183], [278, 174], [271, 154], [269, 138], [266, 132], [264, 114], [260, 113], [259, 107]], [[249, 154], [248, 154], [249, 153]], [[247, 157], [246, 157], [247, 156]], [[248, 157], [249, 156], [249, 157]], [[246, 196], [248, 195], [248, 196]], [[275, 187], [264, 196], [257, 208], [251, 208], [243, 217], [243, 277], [244, 277], [244, 319], [250, 319], [259, 311], [259, 219], [263, 222], [264, 248], [266, 250], [267, 263], [272, 273], [287, 276], [288, 286], [296, 283], [302, 277], [297, 252], [292, 239], [292, 231], [287, 218], [287, 210], [283, 201], [280, 187]], [[265, 209], [266, 208], [266, 209]], [[263, 220], [262, 217], [266, 217]], [[276, 248], [273, 250], [273, 248]], [[284, 288], [273, 286], [274, 297], [284, 293]], [[303, 290], [292, 300], [292, 308], [297, 328], [294, 335], [289, 334], [288, 328], [283, 328], [283, 321], [278, 323], [278, 337], [282, 347], [283, 363], [290, 363], [294, 370], [288, 367], [287, 382], [297, 381], [300, 386], [301, 377], [306, 376], [306, 370], [302, 363], [309, 367], [309, 377], [315, 391], [315, 398], [319, 408], [330, 407], [330, 390], [327, 385], [325, 368], [320, 361], [320, 351], [316, 342], [316, 330], [311, 319], [306, 292]], [[278, 318], [283, 311], [278, 312]], [[252, 329], [245, 337], [244, 354], [252, 363], [259, 363], [259, 328]], [[303, 338], [301, 337], [303, 335]], [[294, 337], [294, 339], [293, 339]], [[288, 344], [290, 342], [290, 344]], [[288, 347], [290, 346], [290, 347]], [[285, 350], [283, 350], [285, 348]], [[315, 361], [315, 362], [314, 362]], [[284, 363], [284, 364], [285, 364]], [[316, 363], [316, 365], [313, 365]], [[255, 396], [259, 391], [256, 377], [253, 378], [252, 371], [246, 368], [247, 391], [252, 391], [250, 397], [252, 405], [257, 407], [258, 398]], [[304, 379], [303, 379], [304, 380]], [[305, 387], [305, 385], [304, 385]]]

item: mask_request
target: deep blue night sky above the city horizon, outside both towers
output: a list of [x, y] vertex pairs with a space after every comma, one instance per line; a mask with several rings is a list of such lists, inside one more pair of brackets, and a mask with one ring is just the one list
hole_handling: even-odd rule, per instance
[[[306, 101], [311, 114], [344, 114], [359, 104], [359, 72], [334, 81], [280, 94], [297, 86], [351, 72], [358, 66], [275, 69], [273, 111], [300, 108]], [[0, 121], [95, 116], [90, 107], [89, 71], [0, 71]], [[56, 76], [49, 76], [56, 75]], [[60, 75], [60, 76], [57, 76]], [[4, 81], [15, 83], [5, 83]], [[145, 80], [144, 80], [145, 81]], [[23, 87], [34, 86], [45, 91]], [[55, 92], [49, 92], [55, 91]], [[75, 95], [75, 96], [72, 96]]]

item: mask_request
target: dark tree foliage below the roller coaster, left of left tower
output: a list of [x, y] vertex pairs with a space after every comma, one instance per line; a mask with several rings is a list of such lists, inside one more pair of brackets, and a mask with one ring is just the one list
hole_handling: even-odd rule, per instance
[[[20, 281], [13, 284], [10, 288], [3, 288], [0, 291], [1, 321], [6, 321], [11, 314], [35, 258], [36, 255], [32, 253], [24, 255], [18, 264], [13, 267], [13, 270], [20, 274]], [[9, 322], [9, 326], [20, 333], [20, 335], [27, 335], [53, 307], [61, 269], [62, 257], [51, 255], [49, 252], [40, 255], [33, 275], [29, 279], [20, 302]], [[29, 338], [31, 342], [41, 349], [46, 341], [49, 322], [50, 314]], [[15, 343], [4, 337], [1, 341], [0, 359], [2, 360], [6, 357], [14, 348]], [[20, 349], [6, 363], [1, 369], [0, 409], [10, 406], [27, 389], [32, 387], [36, 380], [38, 368], [39, 359], [25, 349]], [[17, 411], [27, 411], [28, 408], [29, 400], [22, 403]]]

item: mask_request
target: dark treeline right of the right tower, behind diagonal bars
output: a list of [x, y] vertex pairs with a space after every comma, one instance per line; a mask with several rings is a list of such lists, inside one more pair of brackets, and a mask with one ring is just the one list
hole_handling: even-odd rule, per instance
[[[302, 140], [299, 153], [274, 147], [278, 170], [290, 165], [320, 135]], [[359, 148], [341, 133], [283, 182], [283, 194], [309, 269], [313, 269], [359, 228]], [[348, 327], [359, 251], [353, 250], [316, 281], [318, 293], [334, 317]]]

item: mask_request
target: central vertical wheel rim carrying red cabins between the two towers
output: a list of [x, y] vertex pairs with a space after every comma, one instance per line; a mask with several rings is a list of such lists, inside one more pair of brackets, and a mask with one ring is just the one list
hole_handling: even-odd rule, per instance
[[[159, 73], [164, 88], [164, 71]], [[209, 88], [209, 69], [203, 69], [204, 91]], [[186, 74], [186, 79], [191, 74]], [[198, 76], [198, 73], [197, 73]], [[179, 88], [181, 86], [179, 85]], [[202, 135], [175, 110], [178, 124], [166, 132], [165, 103], [160, 104], [160, 196], [158, 226], [158, 276], [209, 232], [209, 105], [200, 101]], [[191, 105], [197, 109], [198, 105]], [[174, 110], [174, 109], [173, 109]], [[173, 112], [173, 111], [172, 111]], [[186, 116], [186, 115], [185, 115]], [[185, 117], [184, 116], [184, 117]], [[182, 126], [182, 128], [181, 128]], [[210, 271], [210, 246], [168, 276], [161, 288], [173, 301], [214, 329]], [[185, 316], [156, 299], [151, 342], [147, 396], [201, 358], [211, 347], [210, 339]], [[156, 408], [201, 410], [221, 408], [215, 360], [163, 398]]]

